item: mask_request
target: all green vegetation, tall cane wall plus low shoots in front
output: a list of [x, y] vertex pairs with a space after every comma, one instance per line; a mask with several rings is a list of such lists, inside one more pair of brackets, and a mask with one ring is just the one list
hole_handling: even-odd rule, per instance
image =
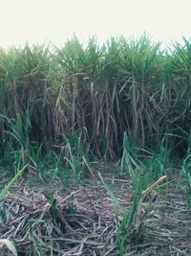
[[191, 207], [190, 74], [191, 41], [185, 38], [166, 50], [147, 35], [111, 38], [102, 46], [91, 38], [87, 47], [74, 37], [54, 51], [1, 49], [0, 164], [17, 174], [0, 199], [26, 167], [68, 184], [87, 170], [94, 176], [92, 160], [119, 159], [117, 172], [130, 175], [134, 188], [117, 227], [123, 255], [141, 192], [166, 179], [179, 160]]

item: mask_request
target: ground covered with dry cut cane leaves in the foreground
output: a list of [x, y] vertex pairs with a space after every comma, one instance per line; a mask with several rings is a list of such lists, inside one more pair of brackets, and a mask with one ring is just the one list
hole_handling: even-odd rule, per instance
[[[131, 179], [113, 175], [114, 168], [102, 164], [96, 171], [115, 198], [108, 195], [98, 172], [70, 187], [55, 178], [42, 183], [35, 177], [23, 177], [0, 202], [0, 238], [14, 241], [21, 256], [120, 255], [117, 225], [121, 209], [129, 209], [133, 193]], [[6, 176], [0, 176], [2, 190]], [[141, 239], [132, 243], [134, 227], [127, 229], [124, 255], [191, 255], [191, 214], [185, 191], [183, 177], [174, 172], [167, 192], [161, 190], [157, 200], [141, 204]], [[11, 254], [2, 246], [0, 255]]]

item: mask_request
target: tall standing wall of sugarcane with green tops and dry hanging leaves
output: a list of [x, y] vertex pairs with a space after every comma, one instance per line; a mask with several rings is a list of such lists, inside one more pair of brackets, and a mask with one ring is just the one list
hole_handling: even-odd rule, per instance
[[132, 147], [160, 151], [166, 140], [182, 156], [191, 125], [191, 42], [168, 52], [148, 35], [102, 46], [91, 38], [87, 47], [74, 37], [54, 53], [39, 45], [1, 49], [1, 158], [19, 158], [33, 145], [42, 153], [61, 149], [75, 130], [80, 147], [90, 145], [99, 158], [122, 155], [124, 132]]

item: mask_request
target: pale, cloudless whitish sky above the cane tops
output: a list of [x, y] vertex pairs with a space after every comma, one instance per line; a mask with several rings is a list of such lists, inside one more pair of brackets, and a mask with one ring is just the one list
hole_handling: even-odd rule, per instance
[[138, 37], [144, 32], [169, 44], [191, 37], [191, 0], [0, 0], [0, 46], [61, 46], [74, 34]]

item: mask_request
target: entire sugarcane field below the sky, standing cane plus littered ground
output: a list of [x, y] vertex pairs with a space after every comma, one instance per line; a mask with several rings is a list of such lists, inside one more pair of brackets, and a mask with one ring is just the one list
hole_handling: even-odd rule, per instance
[[191, 255], [191, 40], [0, 49], [0, 255]]

